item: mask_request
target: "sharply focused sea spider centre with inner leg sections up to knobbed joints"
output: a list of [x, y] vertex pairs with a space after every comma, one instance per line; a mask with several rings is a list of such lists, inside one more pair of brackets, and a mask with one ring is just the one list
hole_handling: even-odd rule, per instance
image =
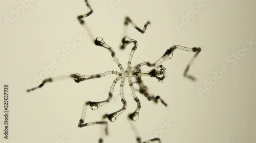
[[[137, 49], [137, 46], [138, 46], [137, 41], [134, 40], [134, 39], [131, 39], [129, 37], [124, 37], [123, 40], [122, 40], [122, 43], [123, 43], [124, 46], [126, 46], [127, 44], [130, 44], [130, 43], [134, 44], [134, 46], [132, 48], [132, 51], [131, 51], [131, 54], [130, 54], [129, 62], [127, 63], [127, 69], [125, 71], [124, 71], [122, 65], [117, 60], [116, 54], [115, 54], [114, 50], [108, 44], [106, 44], [102, 38], [98, 37], [95, 40], [95, 45], [101, 46], [101, 47], [104, 47], [104, 48], [110, 50], [111, 56], [114, 59], [114, 61], [117, 63], [117, 65], [118, 65], [118, 67], [120, 69], [120, 72], [109, 71], [109, 72], [105, 72], [105, 73], [101, 73], [101, 74], [95, 74], [95, 75], [90, 75], [90, 76], [88, 76], [88, 75], [80, 75], [80, 74], [73, 75], [74, 76], [74, 81], [78, 83], [78, 82], [81, 82], [81, 81], [84, 81], [84, 80], [88, 80], [88, 79], [92, 79], [92, 78], [100, 78], [100, 77], [105, 76], [107, 74], [116, 74], [116, 75], [118, 75], [118, 77], [114, 80], [112, 87], [114, 87], [115, 83], [118, 80], [122, 79], [120, 85], [121, 85], [121, 102], [123, 103], [123, 107], [120, 110], [118, 110], [116, 112], [113, 112], [113, 113], [108, 115], [108, 119], [111, 122], [116, 121], [117, 117], [126, 109], [126, 106], [127, 106], [126, 105], [126, 101], [125, 101], [124, 96], [123, 96], [123, 85], [124, 85], [125, 78], [128, 78], [129, 85], [131, 87], [134, 100], [135, 100], [135, 102], [137, 102], [137, 109], [133, 113], [131, 113], [129, 115], [130, 119], [132, 119], [133, 121], [136, 121], [138, 119], [139, 111], [140, 111], [140, 108], [141, 108], [140, 100], [137, 98], [137, 96], [136, 96], [136, 94], [134, 92], [133, 84], [134, 83], [138, 83], [140, 85], [140, 90], [139, 90], [140, 93], [144, 94], [144, 96], [149, 101], [151, 101], [152, 97], [147, 93], [147, 91], [146, 91], [147, 88], [143, 84], [143, 82], [141, 80], [141, 76], [156, 77], [158, 80], [163, 80], [165, 78], [165, 70], [166, 69], [162, 65], [159, 65], [159, 66], [155, 67], [154, 69], [152, 69], [152, 70], [150, 70], [148, 72], [142, 72], [140, 70], [140, 67], [141, 67], [140, 64], [135, 66], [135, 67], [133, 67], [133, 68], [131, 68], [132, 57], [133, 57], [134, 51]], [[147, 63], [147, 65], [148, 65], [148, 63]], [[153, 64], [153, 65], [155, 65], [155, 64]], [[162, 77], [160, 77], [160, 76], [162, 76]], [[135, 77], [137, 79], [137, 81], [132, 81], [132, 77]], [[114, 89], [112, 87], [111, 87], [111, 90], [109, 92], [109, 98], [106, 99], [105, 101], [100, 101], [100, 102], [91, 102], [91, 101], [89, 101], [87, 103], [88, 105], [90, 105], [91, 109], [96, 110], [96, 109], [98, 109], [99, 107], [101, 107], [102, 105], [108, 103], [111, 100], [111, 98], [113, 97], [112, 91]]]

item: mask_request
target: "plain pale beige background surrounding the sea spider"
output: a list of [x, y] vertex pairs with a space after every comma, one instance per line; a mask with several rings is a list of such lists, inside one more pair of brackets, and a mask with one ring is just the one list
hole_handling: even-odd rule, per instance
[[[142, 103], [136, 122], [142, 140], [159, 134], [162, 122], [173, 126], [162, 132], [162, 142], [255, 142], [255, 45], [231, 66], [227, 57], [242, 48], [245, 39], [255, 39], [255, 2], [206, 1], [206, 6], [178, 32], [174, 22], [181, 22], [182, 14], [198, 1], [124, 1], [113, 10], [110, 1], [89, 1], [94, 13], [86, 18], [95, 37], [104, 38], [113, 47], [124, 67], [130, 49], [118, 46], [123, 34], [123, 20], [130, 16], [143, 25], [152, 21], [144, 35], [130, 25], [128, 35], [138, 40], [139, 47], [133, 63], [143, 59], [154, 62], [173, 44], [201, 46], [190, 73], [196, 82], [185, 79], [183, 71], [194, 53], [177, 50], [174, 58], [165, 61], [167, 77], [163, 83], [145, 77], [151, 93], [161, 95], [168, 108], [148, 102], [137, 94]], [[76, 16], [88, 11], [81, 1], [37, 1], [31, 4], [8, 27], [4, 17], [19, 1], [1, 1], [1, 103], [3, 84], [10, 86], [9, 139], [1, 142], [97, 142], [99, 126], [77, 128], [84, 101], [100, 101], [111, 86], [114, 75], [75, 83], [72, 79], [46, 84], [44, 88], [26, 93], [27, 83], [34, 74], [44, 71], [53, 60], [59, 64], [49, 77], [80, 73], [90, 75], [118, 70], [106, 49], [93, 45], [88, 38], [61, 61], [56, 53], [72, 43], [75, 34], [87, 36]], [[212, 71], [227, 65], [229, 72], [203, 96], [197, 92]], [[147, 69], [146, 69], [147, 70]], [[116, 87], [119, 87], [119, 82]], [[119, 88], [118, 88], [119, 89]], [[99, 121], [103, 113], [118, 110], [119, 91], [112, 102], [97, 111], [88, 110], [87, 121]], [[136, 108], [131, 90], [125, 82], [127, 110], [109, 124], [105, 142], [135, 142], [127, 122], [127, 114]], [[2, 108], [3, 104], [1, 104]], [[3, 121], [1, 110], [1, 121]]]

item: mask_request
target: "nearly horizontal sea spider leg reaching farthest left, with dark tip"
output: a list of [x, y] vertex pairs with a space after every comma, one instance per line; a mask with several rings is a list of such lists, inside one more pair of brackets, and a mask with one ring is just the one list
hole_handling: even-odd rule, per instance
[[61, 76], [61, 77], [55, 77], [55, 78], [50, 77], [50, 78], [46, 78], [45, 80], [43, 80], [42, 83], [39, 84], [37, 87], [34, 87], [32, 89], [28, 89], [27, 92], [39, 89], [39, 88], [43, 87], [45, 85], [45, 83], [47, 83], [47, 82], [53, 82], [53, 81], [67, 79], [67, 78], [74, 78], [74, 81], [78, 83], [78, 82], [83, 81], [83, 80], [88, 80], [88, 79], [93, 79], [93, 78], [100, 78], [100, 77], [108, 75], [108, 74], [120, 75], [121, 73], [117, 72], [117, 71], [107, 71], [107, 72], [104, 72], [104, 73], [99, 73], [99, 74], [94, 74], [94, 75], [80, 75], [80, 74], [77, 73], [77, 74], [71, 74], [69, 76]]

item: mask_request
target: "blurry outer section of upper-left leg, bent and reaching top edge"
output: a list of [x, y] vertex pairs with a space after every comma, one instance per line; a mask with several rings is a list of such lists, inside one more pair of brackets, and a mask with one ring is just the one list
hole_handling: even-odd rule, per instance
[[90, 38], [92, 39], [92, 41], [94, 41], [94, 36], [90, 30], [90, 28], [86, 25], [86, 23], [84, 22], [83, 18], [85, 17], [88, 17], [89, 15], [91, 15], [93, 13], [93, 10], [91, 8], [91, 6], [89, 5], [88, 1], [87, 0], [84, 0], [84, 2], [86, 2], [86, 6], [88, 7], [89, 9], [89, 12], [86, 13], [86, 14], [83, 14], [83, 15], [78, 15], [77, 16], [77, 19], [78, 21], [80, 22], [80, 24], [86, 29], [86, 31], [88, 32], [88, 35], [90, 36]]

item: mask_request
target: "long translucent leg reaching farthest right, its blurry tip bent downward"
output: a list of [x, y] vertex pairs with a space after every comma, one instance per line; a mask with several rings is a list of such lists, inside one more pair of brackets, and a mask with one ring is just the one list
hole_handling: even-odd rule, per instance
[[140, 63], [138, 64], [134, 70], [139, 70], [141, 66], [148, 66], [148, 67], [154, 67], [156, 65], [159, 65], [161, 64], [162, 62], [164, 62], [165, 60], [168, 60], [168, 59], [172, 59], [173, 58], [173, 52], [176, 50], [176, 49], [182, 49], [182, 50], [185, 50], [185, 51], [191, 51], [191, 52], [196, 52], [195, 55], [193, 56], [193, 58], [191, 58], [191, 60], [189, 61], [185, 71], [184, 71], [184, 76], [195, 81], [196, 78], [194, 76], [191, 76], [191, 75], [187, 75], [187, 72], [189, 70], [189, 67], [191, 66], [191, 64], [195, 61], [197, 55], [200, 53], [201, 51], [201, 48], [200, 47], [193, 47], [193, 48], [188, 48], [188, 47], [184, 47], [184, 46], [180, 46], [180, 45], [174, 45], [172, 47], [170, 47], [169, 49], [167, 49], [165, 51], [165, 53], [161, 56], [161, 58], [159, 60], [157, 60], [155, 63], [150, 63], [150, 62], [143, 62], [143, 63]]

